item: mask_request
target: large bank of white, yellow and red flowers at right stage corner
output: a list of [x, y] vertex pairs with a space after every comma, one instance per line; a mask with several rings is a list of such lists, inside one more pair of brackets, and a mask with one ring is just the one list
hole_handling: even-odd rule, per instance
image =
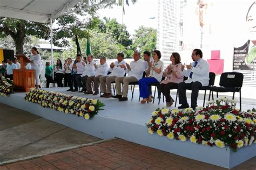
[[224, 148], [237, 148], [256, 143], [255, 109], [247, 112], [235, 108], [228, 98], [210, 101], [206, 108], [184, 110], [157, 109], [146, 123], [148, 132], [181, 141]]

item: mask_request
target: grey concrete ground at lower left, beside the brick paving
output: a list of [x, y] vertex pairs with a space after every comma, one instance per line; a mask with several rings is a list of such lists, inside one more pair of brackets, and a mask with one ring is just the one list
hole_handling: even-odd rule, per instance
[[102, 139], [0, 103], [0, 163]]

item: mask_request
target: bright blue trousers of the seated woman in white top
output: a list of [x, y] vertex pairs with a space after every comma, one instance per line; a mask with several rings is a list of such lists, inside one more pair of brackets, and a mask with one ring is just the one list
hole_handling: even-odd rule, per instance
[[139, 96], [143, 98], [149, 98], [151, 95], [149, 92], [149, 84], [158, 83], [158, 80], [154, 77], [145, 77], [139, 80]]

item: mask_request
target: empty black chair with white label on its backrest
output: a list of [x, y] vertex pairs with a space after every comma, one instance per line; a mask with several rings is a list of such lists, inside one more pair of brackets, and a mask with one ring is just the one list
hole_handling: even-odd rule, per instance
[[210, 90], [215, 91], [217, 93], [224, 93], [224, 92], [233, 92], [232, 99], [234, 100], [235, 92], [239, 92], [239, 102], [240, 102], [240, 111], [242, 110], [242, 103], [241, 103], [241, 88], [242, 88], [242, 81], [244, 80], [244, 75], [238, 72], [226, 72], [222, 73], [220, 76], [220, 87], [213, 86]]

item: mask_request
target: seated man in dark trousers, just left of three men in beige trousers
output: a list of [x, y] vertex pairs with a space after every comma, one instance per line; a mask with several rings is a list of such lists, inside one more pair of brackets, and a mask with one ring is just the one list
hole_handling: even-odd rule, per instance
[[87, 56], [87, 63], [84, 67], [84, 72], [82, 75], [76, 77], [76, 81], [79, 87], [82, 87], [82, 90], [79, 92], [86, 92], [86, 81], [87, 77], [95, 75], [95, 61], [93, 61], [93, 56], [89, 54]]

